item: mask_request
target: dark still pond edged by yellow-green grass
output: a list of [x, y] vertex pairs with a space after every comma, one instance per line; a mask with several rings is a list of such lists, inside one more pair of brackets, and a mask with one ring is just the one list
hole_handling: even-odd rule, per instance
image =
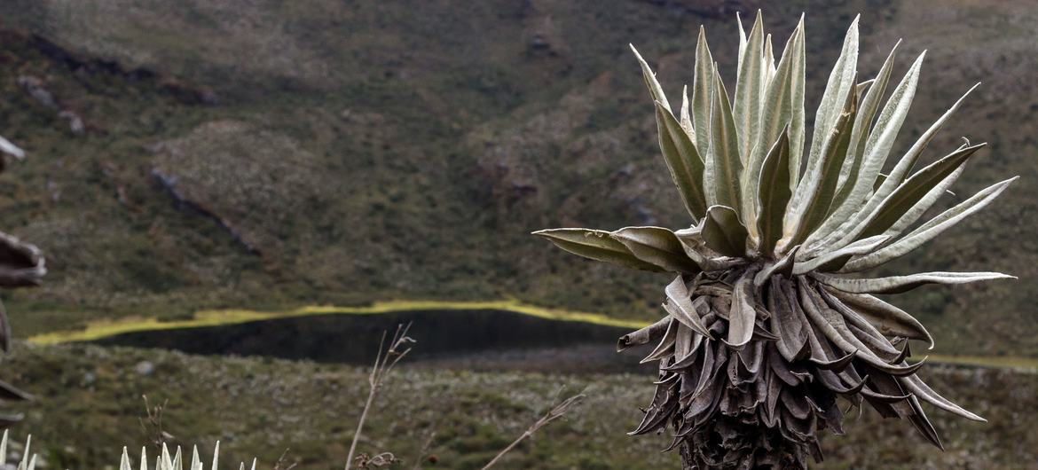
[[616, 353], [626, 328], [539, 319], [501, 310], [416, 310], [329, 314], [218, 327], [126, 333], [101, 344], [161, 348], [192, 354], [271, 356], [371, 364], [383, 331], [412, 323], [417, 340], [406, 361], [421, 367], [559, 372], [650, 371], [648, 351]]

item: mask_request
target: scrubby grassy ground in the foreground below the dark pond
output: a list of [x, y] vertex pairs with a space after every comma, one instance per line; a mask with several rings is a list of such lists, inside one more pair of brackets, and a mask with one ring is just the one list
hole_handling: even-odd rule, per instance
[[[419, 337], [420, 340], [420, 337]], [[420, 347], [420, 343], [418, 344]], [[154, 372], [138, 364], [148, 361]], [[1038, 460], [1030, 432], [1038, 410], [1038, 376], [996, 369], [931, 368], [938, 391], [990, 420], [979, 424], [939, 410], [931, 417], [944, 436], [940, 452], [907, 422], [882, 420], [871, 409], [848, 419], [846, 437], [826, 436], [826, 462], [817, 469], [1019, 469]], [[203, 455], [221, 441], [223, 468], [256, 455], [269, 468], [284, 448], [303, 468], [342, 465], [366, 395], [366, 375], [348, 366], [266, 359], [212, 358], [97, 347], [18, 344], [4, 379], [42, 396], [18, 405], [27, 414], [13, 436], [33, 435], [48, 468], [103, 468], [121, 445], [146, 440], [137, 417], [142, 393], [168, 399], [164, 428]], [[475, 469], [549, 406], [558, 386], [583, 388], [588, 400], [572, 415], [521, 445], [501, 468], [666, 468], [666, 436], [629, 437], [649, 399], [649, 377], [557, 376], [421, 369], [405, 364], [379, 397], [362, 451], [390, 450], [410, 468], [435, 431], [435, 466]], [[862, 451], [868, 448], [868, 451]], [[154, 451], [151, 452], [154, 454]], [[204, 458], [203, 458], [204, 459]], [[1022, 466], [1021, 466], [1022, 465]]]

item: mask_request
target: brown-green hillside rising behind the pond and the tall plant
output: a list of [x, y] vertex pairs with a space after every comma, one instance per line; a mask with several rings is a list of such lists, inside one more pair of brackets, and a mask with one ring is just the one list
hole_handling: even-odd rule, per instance
[[[402, 298], [515, 296], [623, 317], [658, 314], [662, 279], [561, 255], [527, 233], [686, 223], [626, 44], [638, 45], [676, 92], [689, 79], [700, 23], [732, 70], [730, 19], [634, 1], [239, 3], [0, 5], [6, 27], [208, 85], [221, 98], [218, 107], [185, 105], [157, 80], [77, 74], [26, 40], [3, 42], [0, 131], [32, 157], [0, 176], [0, 226], [44, 247], [52, 269], [45, 288], [10, 299], [20, 334], [142, 312]], [[810, 96], [857, 11], [863, 74], [897, 37], [906, 39], [898, 73], [930, 49], [898, 148], [985, 81], [925, 158], [959, 135], [991, 142], [958, 199], [1025, 177], [987, 214], [884, 272], [1019, 275], [902, 302], [931, 326], [940, 352], [1038, 355], [1030, 281], [1038, 267], [1030, 163], [1038, 104], [1028, 43], [1038, 8], [1023, 0], [956, 0], [939, 11], [910, 1], [783, 3], [766, 12], [780, 36], [809, 12]], [[538, 35], [549, 50], [529, 46]], [[72, 136], [18, 89], [19, 75], [45, 78], [104, 133]], [[153, 168], [179, 176], [182, 192], [229, 220], [262, 256], [212, 220], [177, 211]], [[116, 199], [117, 186], [130, 204]]]

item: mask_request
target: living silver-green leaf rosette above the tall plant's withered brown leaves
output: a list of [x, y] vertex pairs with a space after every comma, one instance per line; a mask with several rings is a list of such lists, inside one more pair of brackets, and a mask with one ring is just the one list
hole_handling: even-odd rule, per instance
[[[763, 34], [758, 18], [740, 58], [735, 101], [730, 104], [715, 64], [709, 62], [710, 51], [701, 30], [693, 98], [684, 100], [685, 106], [678, 115], [672, 111], [649, 64], [637, 56], [656, 103], [660, 148], [692, 221], [692, 227], [686, 230], [689, 234], [679, 239], [685, 240], [684, 250], [693, 253], [678, 253], [675, 259], [654, 262], [624, 249], [626, 244], [617, 240], [617, 232], [559, 228], [536, 233], [582, 256], [649, 271], [675, 271], [674, 266], [684, 264], [703, 268], [695, 262], [698, 259], [718, 255], [768, 264], [794, 248], [798, 248], [795, 265], [800, 271], [799, 267], [812, 260], [866, 239], [886, 238], [882, 243], [871, 244], [869, 250], [858, 250], [842, 259], [843, 262], [827, 264], [822, 271], [811, 270], [844, 277], [845, 273], [880, 266], [920, 247], [983, 209], [1016, 179], [996, 183], [908, 231], [984, 146], [967, 142], [937, 162], [911, 172], [927, 144], [962, 100], [919, 137], [898, 159], [891, 174], [881, 174], [916, 93], [925, 52], [880, 107], [896, 48], [875, 79], [855, 84], [855, 21], [815, 113], [819, 126], [814, 129], [807, 162], [801, 164], [807, 133], [803, 21], [789, 38], [776, 64], [768, 60], [768, 51], [762, 46]], [[770, 35], [767, 37], [769, 44]], [[790, 190], [784, 191], [784, 186]], [[721, 213], [726, 215], [715, 216]], [[716, 229], [733, 237], [742, 238], [743, 233], [745, 237], [706, 240], [703, 236], [706, 246], [694, 246], [691, 240], [699, 237], [690, 233], [700, 236], [704, 230], [714, 229], [711, 226], [715, 224]], [[977, 274], [971, 278], [995, 276]], [[930, 277], [934, 282], [962, 279], [944, 274]], [[889, 288], [889, 282], [881, 280], [865, 284], [870, 286], [867, 288]]]

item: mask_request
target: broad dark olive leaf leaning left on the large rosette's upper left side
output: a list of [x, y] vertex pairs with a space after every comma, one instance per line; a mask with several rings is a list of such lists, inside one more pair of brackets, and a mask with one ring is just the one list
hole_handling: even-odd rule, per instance
[[659, 147], [663, 151], [663, 160], [671, 170], [671, 177], [682, 202], [692, 220], [698, 222], [706, 213], [707, 202], [704, 193], [703, 174], [706, 166], [703, 158], [695, 150], [691, 138], [681, 128], [681, 125], [671, 114], [663, 104], [656, 102], [656, 120], [659, 127]]

